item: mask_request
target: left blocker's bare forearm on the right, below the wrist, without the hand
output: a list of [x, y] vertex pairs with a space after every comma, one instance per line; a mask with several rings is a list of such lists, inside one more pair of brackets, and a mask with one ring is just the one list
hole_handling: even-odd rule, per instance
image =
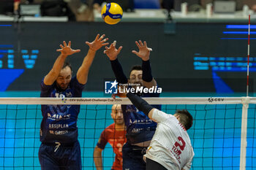
[[89, 49], [86, 57], [83, 59], [82, 65], [78, 69], [77, 79], [78, 82], [80, 82], [83, 85], [87, 82], [89, 70], [91, 67], [91, 63], [94, 61], [95, 54], [96, 51]]

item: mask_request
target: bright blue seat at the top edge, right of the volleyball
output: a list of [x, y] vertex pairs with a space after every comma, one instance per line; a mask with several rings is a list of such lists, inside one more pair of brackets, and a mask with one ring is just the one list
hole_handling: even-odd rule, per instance
[[159, 0], [134, 0], [135, 9], [159, 9]]

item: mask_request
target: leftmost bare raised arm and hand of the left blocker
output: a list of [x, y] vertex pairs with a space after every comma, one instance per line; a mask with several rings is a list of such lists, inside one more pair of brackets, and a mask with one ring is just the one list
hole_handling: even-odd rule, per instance
[[80, 52], [80, 50], [72, 50], [71, 42], [69, 42], [69, 44], [67, 45], [67, 43], [64, 41], [63, 45], [60, 45], [61, 49], [57, 50], [61, 52], [61, 55], [59, 55], [59, 57], [53, 64], [53, 69], [51, 69], [50, 72], [45, 76], [45, 85], [53, 85], [53, 82], [55, 82], [55, 80], [58, 78], [59, 73], [61, 72], [61, 69], [64, 66], [64, 62], [68, 55]]

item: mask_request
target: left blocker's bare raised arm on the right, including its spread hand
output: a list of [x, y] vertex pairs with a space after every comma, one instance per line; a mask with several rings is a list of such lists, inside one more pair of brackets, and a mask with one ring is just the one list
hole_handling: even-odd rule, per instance
[[77, 73], [77, 79], [80, 84], [85, 85], [88, 79], [89, 69], [91, 67], [92, 61], [94, 61], [95, 54], [99, 48], [101, 48], [104, 45], [108, 45], [108, 38], [104, 39], [105, 34], [99, 37], [99, 34], [97, 34], [96, 38], [93, 42], [86, 42], [86, 45], [89, 45], [89, 51], [86, 55], [86, 57], [83, 59], [83, 63], [78, 69]]

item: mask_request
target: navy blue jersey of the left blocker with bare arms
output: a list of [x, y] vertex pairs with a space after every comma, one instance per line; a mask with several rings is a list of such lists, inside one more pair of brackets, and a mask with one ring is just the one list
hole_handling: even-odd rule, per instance
[[[40, 97], [72, 98], [81, 97], [84, 85], [73, 77], [66, 90], [41, 82]], [[80, 105], [42, 105], [40, 141], [44, 143], [72, 143], [78, 140], [78, 113]]]

